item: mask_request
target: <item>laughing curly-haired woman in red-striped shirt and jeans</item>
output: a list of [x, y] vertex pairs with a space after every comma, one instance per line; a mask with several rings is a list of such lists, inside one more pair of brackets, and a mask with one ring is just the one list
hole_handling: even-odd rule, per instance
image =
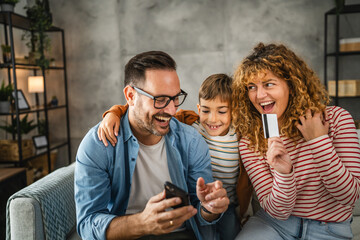
[[[234, 74], [233, 124], [260, 205], [237, 239], [351, 239], [360, 147], [350, 114], [284, 45], [258, 44]], [[280, 137], [264, 138], [261, 114]]]

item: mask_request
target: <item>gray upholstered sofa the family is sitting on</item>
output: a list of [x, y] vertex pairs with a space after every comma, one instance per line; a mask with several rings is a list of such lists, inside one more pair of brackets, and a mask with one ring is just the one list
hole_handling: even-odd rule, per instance
[[[80, 239], [75, 230], [74, 168], [60, 168], [9, 198], [7, 240]], [[352, 230], [360, 240], [360, 201]]]

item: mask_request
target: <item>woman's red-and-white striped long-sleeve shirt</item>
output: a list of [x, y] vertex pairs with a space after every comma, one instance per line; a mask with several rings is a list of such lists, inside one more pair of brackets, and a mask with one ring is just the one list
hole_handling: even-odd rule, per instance
[[271, 216], [290, 215], [319, 221], [342, 222], [352, 216], [360, 191], [360, 146], [350, 114], [340, 107], [327, 107], [328, 135], [311, 141], [281, 136], [293, 171], [281, 174], [265, 157], [249, 150], [241, 139], [241, 159], [260, 205]]

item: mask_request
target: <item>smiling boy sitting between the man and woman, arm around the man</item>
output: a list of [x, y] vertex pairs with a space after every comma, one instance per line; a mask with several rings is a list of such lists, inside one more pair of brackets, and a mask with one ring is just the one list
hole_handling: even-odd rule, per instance
[[[209, 76], [199, 90], [199, 115], [187, 110], [179, 110], [175, 114], [179, 121], [196, 128], [209, 145], [214, 180], [223, 182], [230, 199], [228, 210], [215, 226], [218, 237], [226, 240], [234, 239], [240, 231], [235, 208], [240, 205], [240, 218], [245, 217], [252, 192], [251, 183], [240, 161], [238, 139], [231, 126], [231, 84], [232, 79], [226, 74]], [[98, 136], [106, 146], [106, 138], [115, 145], [116, 137], [113, 133], [117, 135], [119, 118], [126, 110], [127, 106], [116, 105], [104, 113]]]

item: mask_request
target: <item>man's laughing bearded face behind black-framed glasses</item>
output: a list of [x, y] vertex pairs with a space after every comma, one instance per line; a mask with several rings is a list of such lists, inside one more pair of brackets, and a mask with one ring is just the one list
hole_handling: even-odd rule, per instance
[[[180, 93], [180, 81], [176, 71], [172, 70], [147, 70], [145, 82], [139, 88], [156, 97], [161, 95], [176, 96]], [[140, 133], [137, 138], [163, 136], [169, 132], [171, 117], [176, 113], [174, 101], [162, 109], [154, 107], [154, 100], [135, 92], [134, 123], [135, 131]], [[152, 136], [154, 135], [154, 136]], [[139, 139], [141, 141], [141, 139]]]

